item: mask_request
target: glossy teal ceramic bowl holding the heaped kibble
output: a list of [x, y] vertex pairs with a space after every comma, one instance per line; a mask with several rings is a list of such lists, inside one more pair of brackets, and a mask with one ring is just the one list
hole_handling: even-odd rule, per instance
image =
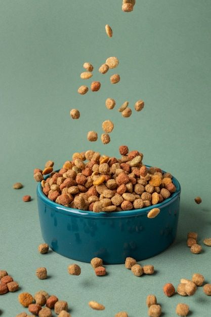
[[[147, 208], [101, 212], [63, 207], [48, 199], [40, 183], [37, 203], [41, 233], [55, 252], [82, 262], [100, 257], [105, 264], [124, 263], [130, 256], [137, 261], [150, 258], [170, 246], [177, 233], [180, 184], [162, 203]], [[147, 213], [154, 207], [160, 213], [153, 219]]]

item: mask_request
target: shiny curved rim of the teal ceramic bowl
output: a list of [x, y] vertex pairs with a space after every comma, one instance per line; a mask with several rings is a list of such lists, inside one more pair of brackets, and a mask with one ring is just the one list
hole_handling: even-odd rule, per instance
[[[145, 165], [145, 166], [147, 168], [151, 167], [149, 165]], [[57, 170], [57, 171], [59, 171], [59, 170]], [[162, 172], [166, 173], [163, 170], [162, 170]], [[46, 175], [45, 179], [48, 177], [49, 177], [49, 174]], [[162, 208], [173, 203], [178, 198], [178, 196], [181, 193], [181, 186], [180, 186], [179, 181], [174, 176], [172, 177], [172, 180], [176, 186], [176, 191], [173, 192], [173, 194], [169, 198], [165, 199], [163, 202], [156, 204], [156, 205], [151, 205], [149, 207], [144, 207], [141, 209], [132, 209], [132, 210], [122, 210], [122, 211], [112, 211], [112, 212], [101, 211], [99, 213], [95, 213], [95, 212], [89, 211], [89, 210], [81, 210], [81, 209], [74, 209], [71, 207], [65, 207], [65, 206], [59, 205], [59, 204], [51, 201], [50, 199], [48, 199], [48, 197], [44, 194], [43, 190], [41, 190], [41, 182], [39, 182], [37, 185], [36, 194], [37, 194], [37, 199], [38, 199], [38, 197], [40, 197], [40, 199], [45, 204], [56, 209], [57, 212], [60, 212], [60, 213], [66, 214], [66, 215], [77, 214], [77, 215], [89, 216], [89, 217], [94, 217], [94, 218], [96, 218], [96, 217], [97, 218], [116, 218], [116, 217], [138, 216], [140, 214], [148, 213], [152, 208], [159, 208], [161, 210]]]

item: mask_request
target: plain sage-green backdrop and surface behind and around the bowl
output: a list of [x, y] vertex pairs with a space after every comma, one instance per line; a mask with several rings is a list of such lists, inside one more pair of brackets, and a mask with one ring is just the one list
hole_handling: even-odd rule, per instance
[[[72, 317], [114, 316], [126, 310], [130, 317], [146, 316], [147, 294], [155, 294], [164, 316], [174, 316], [177, 303], [190, 305], [191, 315], [210, 315], [211, 298], [198, 288], [193, 297], [167, 298], [162, 286], [178, 285], [192, 273], [204, 274], [211, 283], [211, 248], [193, 255], [186, 247], [188, 231], [197, 231], [199, 243], [211, 236], [210, 224], [210, 0], [137, 0], [132, 13], [121, 11], [121, 0], [2, 0], [0, 2], [0, 136], [1, 217], [0, 269], [20, 284], [20, 291], [0, 297], [0, 315], [24, 311], [17, 296], [44, 289], [67, 300]], [[105, 24], [113, 37], [107, 37]], [[102, 75], [99, 66], [109, 56], [119, 66]], [[101, 81], [98, 93], [77, 93], [82, 64], [95, 69], [92, 80]], [[118, 72], [121, 81], [111, 85]], [[107, 97], [116, 107], [105, 107]], [[133, 108], [145, 101], [141, 112], [121, 117], [125, 101]], [[69, 110], [78, 108], [78, 121]], [[90, 143], [86, 134], [110, 119], [111, 142]], [[144, 153], [144, 162], [170, 171], [181, 183], [181, 213], [176, 242], [162, 254], [142, 261], [153, 264], [156, 274], [137, 278], [123, 265], [106, 266], [108, 275], [94, 276], [90, 264], [79, 263], [80, 276], [67, 273], [72, 263], [54, 252], [40, 255], [41, 237], [33, 169], [53, 160], [59, 168], [75, 151], [94, 149], [112, 156], [118, 146]], [[13, 183], [24, 188], [14, 190]], [[33, 200], [23, 203], [22, 196]], [[202, 197], [196, 205], [195, 196]], [[75, 262], [75, 261], [74, 261]], [[39, 266], [49, 279], [35, 276]], [[88, 307], [90, 300], [106, 306]], [[25, 309], [26, 310], [26, 309]], [[208, 311], [208, 312], [207, 312]]]

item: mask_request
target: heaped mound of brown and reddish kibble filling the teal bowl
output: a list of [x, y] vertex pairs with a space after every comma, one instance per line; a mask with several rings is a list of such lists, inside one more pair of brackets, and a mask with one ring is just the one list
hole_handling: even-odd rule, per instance
[[[66, 207], [111, 212], [156, 205], [176, 191], [170, 173], [142, 164], [143, 154], [119, 147], [120, 159], [99, 152], [74, 153], [72, 161], [53, 172], [53, 162], [34, 170], [43, 192], [51, 201]], [[86, 161], [88, 161], [86, 163]], [[43, 175], [50, 174], [46, 180]]]

